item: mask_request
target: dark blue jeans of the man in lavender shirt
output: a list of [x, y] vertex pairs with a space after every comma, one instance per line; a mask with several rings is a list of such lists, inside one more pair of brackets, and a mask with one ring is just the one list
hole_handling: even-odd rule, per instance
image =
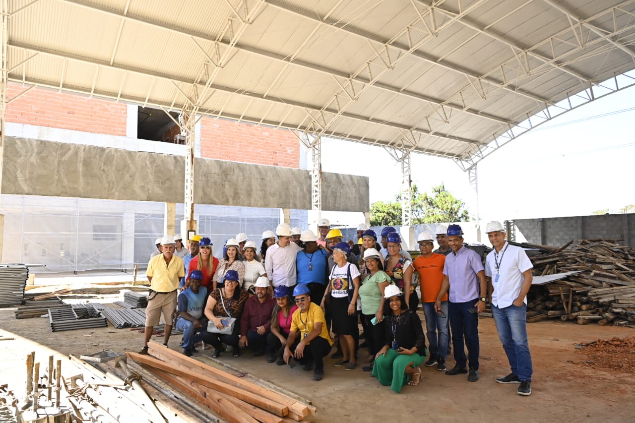
[[481, 352], [478, 340], [478, 314], [467, 311], [471, 307], [476, 307], [477, 302], [478, 299], [467, 302], [448, 302], [454, 360], [460, 368], [465, 368], [467, 362], [465, 357], [465, 346], [467, 346], [469, 366], [478, 370], [478, 356]]

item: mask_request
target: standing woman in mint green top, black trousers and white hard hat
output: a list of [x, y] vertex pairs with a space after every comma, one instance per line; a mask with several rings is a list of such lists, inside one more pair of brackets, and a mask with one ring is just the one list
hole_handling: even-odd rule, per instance
[[368, 344], [368, 364], [362, 370], [373, 370], [375, 354], [384, 345], [384, 290], [390, 285], [391, 278], [382, 269], [382, 257], [375, 248], [364, 252], [364, 267], [368, 276], [359, 288], [361, 299], [361, 323]]

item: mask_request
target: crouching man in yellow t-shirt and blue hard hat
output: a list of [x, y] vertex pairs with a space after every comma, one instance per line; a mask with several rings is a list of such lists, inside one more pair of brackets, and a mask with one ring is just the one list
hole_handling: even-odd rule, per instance
[[293, 366], [297, 358], [304, 370], [313, 369], [313, 380], [318, 382], [324, 377], [324, 357], [331, 351], [331, 338], [328, 336], [324, 312], [319, 305], [311, 302], [311, 293], [306, 285], [297, 285], [293, 289], [293, 298], [298, 309], [291, 316], [291, 332], [284, 346], [284, 362]]

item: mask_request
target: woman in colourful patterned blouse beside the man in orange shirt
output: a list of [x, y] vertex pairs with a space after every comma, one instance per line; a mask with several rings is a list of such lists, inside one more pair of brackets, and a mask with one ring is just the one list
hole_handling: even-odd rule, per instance
[[386, 236], [386, 248], [388, 255], [384, 261], [384, 272], [391, 277], [392, 283], [404, 293], [408, 308], [417, 312], [419, 297], [412, 286], [414, 267], [410, 260], [401, 255], [401, 237], [397, 232], [391, 232]]

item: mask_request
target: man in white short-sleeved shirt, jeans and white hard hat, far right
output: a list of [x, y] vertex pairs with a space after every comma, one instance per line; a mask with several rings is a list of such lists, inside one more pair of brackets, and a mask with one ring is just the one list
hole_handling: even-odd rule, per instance
[[505, 241], [500, 222], [487, 224], [485, 232], [494, 249], [485, 259], [491, 313], [512, 372], [498, 377], [500, 384], [519, 384], [516, 393], [531, 395], [531, 353], [527, 341], [527, 293], [533, 265], [519, 246]]

